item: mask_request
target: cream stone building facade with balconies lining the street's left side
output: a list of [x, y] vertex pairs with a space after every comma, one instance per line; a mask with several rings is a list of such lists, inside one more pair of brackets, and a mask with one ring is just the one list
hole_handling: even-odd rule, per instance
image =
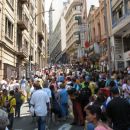
[[0, 79], [29, 78], [43, 67], [44, 1], [2, 0], [0, 9]]

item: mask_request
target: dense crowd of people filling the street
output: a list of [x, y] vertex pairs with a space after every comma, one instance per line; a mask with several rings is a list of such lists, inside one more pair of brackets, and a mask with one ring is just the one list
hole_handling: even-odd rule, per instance
[[110, 76], [80, 66], [60, 67], [46, 69], [40, 77], [23, 77], [20, 81], [12, 77], [10, 82], [3, 79], [0, 84], [0, 106], [8, 113], [9, 130], [13, 128], [14, 116], [20, 117], [24, 100], [38, 119], [38, 130], [45, 130], [48, 113], [61, 121], [73, 113], [71, 125], [85, 126], [85, 130], [130, 130], [127, 71], [112, 72]]

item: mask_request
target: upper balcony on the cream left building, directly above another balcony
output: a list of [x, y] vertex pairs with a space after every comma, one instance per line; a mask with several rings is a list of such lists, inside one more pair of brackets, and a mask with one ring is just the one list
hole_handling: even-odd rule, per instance
[[18, 27], [21, 29], [21, 30], [25, 30], [28, 28], [28, 20], [26, 18], [25, 15], [19, 15], [18, 16]]

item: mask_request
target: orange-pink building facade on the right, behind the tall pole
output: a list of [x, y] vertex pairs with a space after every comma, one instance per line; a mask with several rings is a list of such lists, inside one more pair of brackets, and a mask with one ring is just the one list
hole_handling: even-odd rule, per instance
[[[110, 39], [109, 44], [111, 44], [112, 34], [109, 0], [106, 0], [106, 6], [104, 5], [104, 0], [100, 0], [99, 7], [91, 6], [87, 19], [88, 45], [86, 45], [86, 50], [91, 64], [102, 71], [107, 71], [109, 69], [108, 55], [111, 55], [111, 52], [108, 52], [107, 38]], [[107, 17], [107, 22], [105, 15]], [[106, 32], [106, 26], [108, 27], [108, 33]]]

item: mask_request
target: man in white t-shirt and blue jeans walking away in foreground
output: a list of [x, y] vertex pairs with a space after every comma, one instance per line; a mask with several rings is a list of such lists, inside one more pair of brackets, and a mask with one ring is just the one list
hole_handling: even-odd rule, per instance
[[30, 104], [34, 107], [34, 112], [38, 118], [38, 130], [45, 130], [45, 120], [49, 110], [49, 96], [44, 92], [39, 85], [39, 82], [34, 81], [35, 92], [32, 94]]

